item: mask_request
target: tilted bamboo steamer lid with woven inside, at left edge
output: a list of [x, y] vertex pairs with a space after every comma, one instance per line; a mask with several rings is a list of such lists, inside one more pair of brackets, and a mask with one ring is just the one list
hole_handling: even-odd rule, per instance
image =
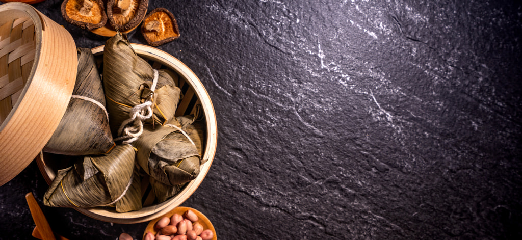
[[28, 4], [0, 5], [0, 186], [51, 138], [77, 67], [76, 45], [65, 28]]

